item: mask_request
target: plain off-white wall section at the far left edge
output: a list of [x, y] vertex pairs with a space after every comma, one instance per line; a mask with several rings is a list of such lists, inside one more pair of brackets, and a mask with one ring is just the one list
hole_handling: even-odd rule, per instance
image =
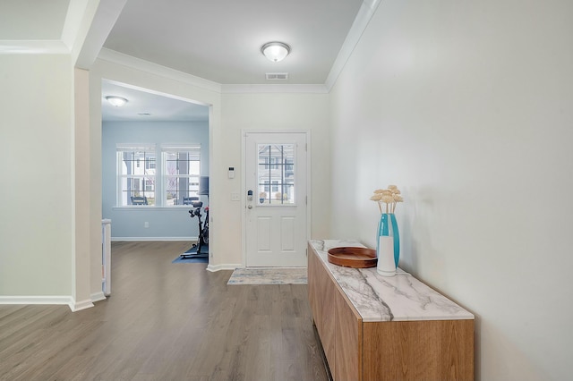
[[0, 89], [0, 299], [70, 298], [75, 237], [71, 58], [2, 55]]

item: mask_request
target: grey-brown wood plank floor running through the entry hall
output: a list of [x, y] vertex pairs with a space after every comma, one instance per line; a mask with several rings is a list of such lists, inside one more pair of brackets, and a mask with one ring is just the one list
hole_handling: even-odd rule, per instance
[[2, 380], [327, 380], [307, 286], [227, 285], [188, 242], [114, 242], [95, 307], [0, 306]]

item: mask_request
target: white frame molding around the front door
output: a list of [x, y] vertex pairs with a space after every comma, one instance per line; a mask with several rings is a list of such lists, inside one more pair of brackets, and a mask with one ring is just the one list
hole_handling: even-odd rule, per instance
[[[241, 130], [241, 267], [247, 263], [247, 203], [246, 203], [246, 135], [247, 133], [304, 133], [306, 141], [306, 240], [311, 238], [311, 131], [309, 130]], [[308, 250], [306, 252], [308, 257]]]

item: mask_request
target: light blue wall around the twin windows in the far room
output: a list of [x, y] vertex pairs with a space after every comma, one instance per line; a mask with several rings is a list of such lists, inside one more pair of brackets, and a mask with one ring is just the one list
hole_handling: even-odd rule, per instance
[[[201, 145], [201, 176], [209, 176], [209, 123], [104, 122], [102, 124], [102, 216], [112, 220], [112, 240], [196, 240], [199, 225], [186, 207], [117, 207], [117, 144], [155, 144], [161, 176], [162, 144]], [[158, 177], [159, 178], [159, 177]], [[160, 198], [159, 194], [156, 195]], [[201, 196], [204, 206], [209, 198]], [[203, 214], [204, 215], [204, 214]], [[204, 221], [204, 216], [201, 217]], [[148, 227], [144, 227], [144, 223]]]

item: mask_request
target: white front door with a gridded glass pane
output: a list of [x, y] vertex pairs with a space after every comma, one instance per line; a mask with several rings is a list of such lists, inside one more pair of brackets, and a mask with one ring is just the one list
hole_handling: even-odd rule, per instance
[[246, 267], [306, 267], [306, 138], [244, 134]]

